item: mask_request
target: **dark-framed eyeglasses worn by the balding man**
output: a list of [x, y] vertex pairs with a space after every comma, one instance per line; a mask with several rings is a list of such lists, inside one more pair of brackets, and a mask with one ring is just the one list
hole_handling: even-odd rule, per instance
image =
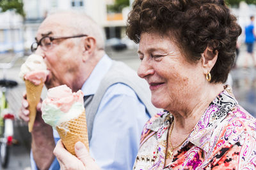
[[79, 38], [83, 36], [88, 36], [86, 34], [81, 34], [77, 36], [63, 36], [63, 37], [51, 37], [51, 36], [44, 36], [39, 41], [35, 41], [31, 45], [31, 52], [35, 52], [38, 46], [41, 46], [44, 51], [51, 50], [52, 48], [52, 41], [55, 39], [68, 39], [68, 38]]

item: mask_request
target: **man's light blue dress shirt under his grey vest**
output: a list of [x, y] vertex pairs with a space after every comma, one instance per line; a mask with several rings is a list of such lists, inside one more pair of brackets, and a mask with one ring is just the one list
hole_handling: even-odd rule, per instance
[[[100, 59], [81, 89], [84, 96], [95, 94], [112, 62], [108, 55]], [[89, 142], [90, 155], [101, 169], [132, 169], [143, 125], [149, 118], [144, 104], [130, 87], [116, 83], [108, 88], [95, 116]], [[60, 139], [56, 131], [54, 139]], [[34, 169], [35, 162], [31, 161], [31, 164]], [[50, 169], [60, 169], [56, 159]]]

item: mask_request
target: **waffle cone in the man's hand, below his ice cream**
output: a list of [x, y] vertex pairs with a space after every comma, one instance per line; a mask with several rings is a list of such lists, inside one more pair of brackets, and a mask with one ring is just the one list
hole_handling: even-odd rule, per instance
[[39, 85], [33, 84], [29, 80], [25, 80], [26, 91], [27, 91], [27, 100], [28, 100], [28, 110], [29, 110], [29, 122], [28, 122], [28, 131], [33, 130], [33, 125], [36, 118], [36, 105], [40, 101], [40, 96], [42, 89], [44, 87], [44, 82]]

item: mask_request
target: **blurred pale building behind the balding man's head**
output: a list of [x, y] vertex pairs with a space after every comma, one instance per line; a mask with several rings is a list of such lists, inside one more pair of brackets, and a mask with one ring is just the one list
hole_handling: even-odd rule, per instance
[[85, 11], [102, 26], [108, 44], [119, 44], [117, 48], [122, 48], [122, 44], [123, 48], [134, 45], [125, 38], [125, 24], [133, 0], [16, 1], [23, 4], [25, 15], [22, 17], [15, 10], [0, 13], [0, 53], [29, 51], [40, 23], [47, 14], [58, 10]]

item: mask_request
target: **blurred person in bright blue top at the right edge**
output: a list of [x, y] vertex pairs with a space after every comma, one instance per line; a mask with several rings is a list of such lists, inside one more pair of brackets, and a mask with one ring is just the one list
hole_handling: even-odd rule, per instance
[[[251, 23], [245, 27], [245, 44], [246, 51], [252, 57], [253, 66], [256, 67], [256, 61], [253, 53], [254, 41], [255, 41], [255, 30], [254, 30], [254, 16], [250, 17]], [[245, 59], [245, 67], [248, 67], [248, 59]]]

